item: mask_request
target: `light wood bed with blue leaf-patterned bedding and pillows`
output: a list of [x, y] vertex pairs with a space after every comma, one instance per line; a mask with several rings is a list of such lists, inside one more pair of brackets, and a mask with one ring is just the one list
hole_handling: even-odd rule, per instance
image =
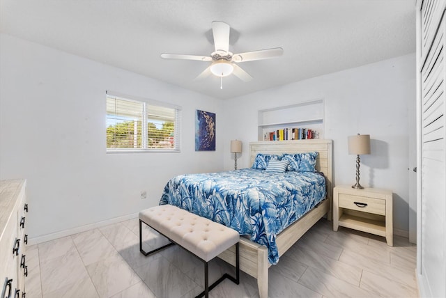
[[[270, 157], [318, 152], [315, 168], [323, 175], [253, 168], [179, 175], [167, 183], [160, 204], [176, 205], [246, 235], [240, 238], [240, 269], [257, 279], [260, 297], [268, 297], [268, 267], [318, 219], [325, 214], [330, 219], [332, 142], [262, 141], [249, 143], [249, 151], [250, 164], [259, 163], [258, 153]], [[305, 153], [313, 167], [315, 156]], [[302, 164], [306, 164], [303, 159]], [[235, 265], [235, 249], [219, 257]]]

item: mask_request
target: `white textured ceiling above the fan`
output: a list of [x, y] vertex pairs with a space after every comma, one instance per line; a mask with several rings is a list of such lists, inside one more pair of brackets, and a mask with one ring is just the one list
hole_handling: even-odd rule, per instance
[[[284, 55], [239, 65], [233, 75], [194, 80], [208, 62], [211, 22], [231, 26], [233, 53], [282, 47]], [[0, 30], [78, 56], [232, 98], [415, 52], [415, 0], [0, 0]]]

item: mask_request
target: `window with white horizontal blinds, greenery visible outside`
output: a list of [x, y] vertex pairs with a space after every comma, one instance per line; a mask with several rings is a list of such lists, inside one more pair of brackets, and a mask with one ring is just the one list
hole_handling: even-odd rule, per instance
[[107, 91], [107, 152], [179, 152], [180, 108]]

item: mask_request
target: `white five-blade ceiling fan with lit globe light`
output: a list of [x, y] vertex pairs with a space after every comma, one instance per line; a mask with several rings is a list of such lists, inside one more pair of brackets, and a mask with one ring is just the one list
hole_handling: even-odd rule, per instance
[[[233, 73], [243, 81], [250, 81], [252, 80], [252, 77], [245, 72], [245, 70], [240, 68], [240, 66], [237, 65], [238, 63], [275, 58], [277, 56], [282, 56], [284, 52], [282, 47], [275, 47], [273, 49], [261, 49], [259, 51], [233, 54], [232, 52], [229, 52], [229, 25], [224, 22], [214, 21], [212, 22], [212, 31], [215, 52], [211, 53], [210, 56], [161, 54], [161, 58], [212, 62], [208, 68], [201, 72], [197, 79], [203, 79], [210, 74], [223, 78]], [[220, 84], [220, 88], [222, 88], [222, 84]]]

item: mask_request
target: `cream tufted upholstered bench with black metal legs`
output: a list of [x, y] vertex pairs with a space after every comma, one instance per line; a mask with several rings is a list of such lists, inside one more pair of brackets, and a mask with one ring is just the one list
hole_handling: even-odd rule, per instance
[[[167, 237], [171, 243], [152, 251], [144, 251], [142, 249], [142, 223]], [[209, 291], [226, 278], [236, 284], [240, 283], [239, 239], [240, 235], [236, 230], [173, 205], [155, 206], [139, 212], [139, 251], [144, 256], [172, 244], [178, 244], [204, 262], [204, 291], [197, 297], [203, 297], [203, 295], [208, 297]], [[234, 244], [236, 245], [236, 278], [226, 273], [215, 283], [208, 285], [208, 262]]]

